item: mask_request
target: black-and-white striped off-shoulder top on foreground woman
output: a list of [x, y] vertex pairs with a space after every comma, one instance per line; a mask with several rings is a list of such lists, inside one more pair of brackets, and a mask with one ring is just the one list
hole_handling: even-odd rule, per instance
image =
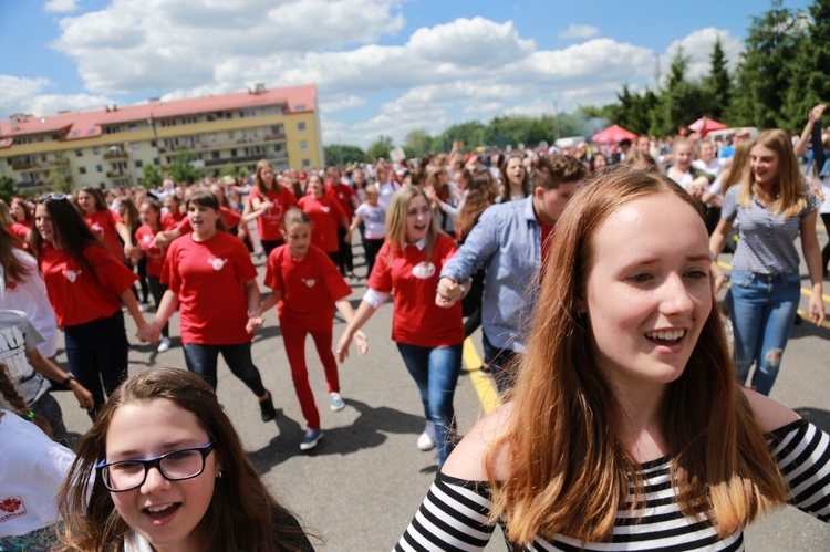
[[[772, 431], [769, 445], [790, 487], [788, 500], [827, 522], [830, 519], [830, 436], [801, 419]], [[671, 459], [642, 465], [646, 507], [633, 514], [616, 514], [610, 542], [587, 543], [567, 537], [552, 542], [537, 538], [526, 551], [618, 551], [618, 550], [744, 550], [744, 533], [719, 540], [707, 520], [688, 519], [675, 501], [670, 481]], [[395, 551], [484, 550], [492, 534], [488, 523], [489, 486], [438, 472], [424, 503], [412, 520]], [[512, 543], [508, 542], [508, 549]]]

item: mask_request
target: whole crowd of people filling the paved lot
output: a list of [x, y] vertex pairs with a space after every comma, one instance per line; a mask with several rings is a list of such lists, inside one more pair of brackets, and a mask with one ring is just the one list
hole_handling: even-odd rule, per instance
[[[766, 396], [798, 317], [796, 239], [808, 317], [824, 322], [823, 111], [797, 140], [769, 129], [725, 147], [704, 129], [568, 152], [455, 144], [397, 163], [294, 171], [263, 159], [249, 179], [0, 204], [0, 503], [25, 504], [0, 525], [0, 549], [312, 550], [318, 537], [273, 498], [219, 406], [218, 356], [273, 420], [251, 341], [276, 308], [299, 448], [313, 449], [324, 434], [305, 337], [340, 412], [338, 361], [352, 342], [369, 354], [362, 327], [388, 299], [424, 409], [415, 445], [436, 449], [438, 467], [396, 550], [480, 550], [496, 524], [515, 550], [732, 550], [780, 503], [830, 519], [830, 437]], [[817, 171], [805, 177], [808, 143]], [[125, 312], [160, 352], [178, 313], [187, 369], [129, 377]], [[479, 326], [504, 405], [461, 439], [455, 389]], [[59, 327], [69, 373], [53, 362]], [[74, 450], [50, 381], [93, 419]]]

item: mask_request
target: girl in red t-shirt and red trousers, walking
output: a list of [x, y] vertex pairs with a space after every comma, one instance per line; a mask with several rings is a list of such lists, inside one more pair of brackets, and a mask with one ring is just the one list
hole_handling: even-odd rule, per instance
[[[320, 413], [309, 385], [305, 335], [311, 334], [323, 364], [331, 409], [342, 410], [345, 403], [340, 396], [338, 362], [331, 351], [332, 321], [334, 306], [346, 322], [354, 316], [346, 299], [352, 289], [331, 259], [311, 244], [311, 220], [308, 215], [300, 209], [290, 209], [283, 219], [283, 233], [288, 243], [268, 256], [266, 285], [273, 292], [257, 309], [256, 317], [249, 323], [249, 331], [261, 327], [262, 312], [277, 305], [286, 354], [291, 365], [291, 378], [308, 424], [300, 449], [308, 450], [317, 446], [323, 431], [320, 429]], [[365, 354], [366, 336], [363, 332], [356, 332], [355, 337], [360, 353]]]

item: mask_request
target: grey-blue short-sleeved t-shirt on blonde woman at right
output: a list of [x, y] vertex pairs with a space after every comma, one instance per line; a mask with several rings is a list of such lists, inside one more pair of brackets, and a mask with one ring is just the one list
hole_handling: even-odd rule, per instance
[[732, 265], [745, 272], [784, 274], [798, 270], [796, 238], [801, 219], [819, 208], [820, 201], [809, 187], [807, 207], [793, 217], [774, 215], [753, 196], [749, 207], [738, 205], [738, 194], [744, 185], [733, 186], [726, 191], [720, 217], [738, 219], [738, 246]]

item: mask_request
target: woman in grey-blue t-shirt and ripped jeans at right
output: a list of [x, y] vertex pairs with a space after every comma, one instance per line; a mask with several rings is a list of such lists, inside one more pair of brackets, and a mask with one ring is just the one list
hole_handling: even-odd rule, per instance
[[[726, 192], [720, 221], [709, 240], [716, 259], [737, 219], [739, 239], [729, 278], [737, 377], [738, 383], [749, 381], [764, 395], [769, 395], [778, 376], [801, 298], [798, 236], [812, 283], [809, 315], [818, 326], [824, 322], [821, 250], [816, 236], [820, 204], [801, 179], [788, 134], [765, 131], [749, 150], [746, 178]], [[718, 288], [720, 283], [723, 278], [717, 280]], [[748, 379], [753, 364], [755, 373]]]

